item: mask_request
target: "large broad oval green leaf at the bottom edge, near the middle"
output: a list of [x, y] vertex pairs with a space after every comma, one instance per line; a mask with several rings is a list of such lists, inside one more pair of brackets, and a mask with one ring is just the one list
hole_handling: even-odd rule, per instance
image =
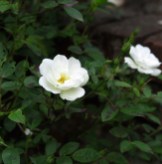
[[100, 154], [95, 149], [83, 148], [76, 151], [72, 157], [75, 161], [88, 163], [96, 161], [100, 157]]

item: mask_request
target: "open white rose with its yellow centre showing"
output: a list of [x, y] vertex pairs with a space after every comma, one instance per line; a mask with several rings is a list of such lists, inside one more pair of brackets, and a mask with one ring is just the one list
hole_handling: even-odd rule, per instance
[[69, 101], [84, 96], [85, 90], [82, 86], [88, 82], [89, 75], [74, 57], [67, 59], [66, 56], [58, 54], [53, 60], [44, 59], [39, 70], [42, 75], [39, 84], [45, 90], [60, 94], [62, 99]]

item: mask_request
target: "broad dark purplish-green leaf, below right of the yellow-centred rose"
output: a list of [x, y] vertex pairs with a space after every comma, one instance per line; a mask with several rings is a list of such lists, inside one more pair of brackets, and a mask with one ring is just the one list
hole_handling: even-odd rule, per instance
[[106, 106], [101, 112], [101, 120], [103, 122], [110, 121], [117, 115], [117, 113], [118, 113], [117, 110], [113, 110], [109, 106]]

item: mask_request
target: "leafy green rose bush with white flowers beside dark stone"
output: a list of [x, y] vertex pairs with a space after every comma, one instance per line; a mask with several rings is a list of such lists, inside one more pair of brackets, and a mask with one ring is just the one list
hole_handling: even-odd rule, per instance
[[95, 46], [109, 4], [0, 1], [0, 164], [162, 163], [161, 62], [134, 33]]

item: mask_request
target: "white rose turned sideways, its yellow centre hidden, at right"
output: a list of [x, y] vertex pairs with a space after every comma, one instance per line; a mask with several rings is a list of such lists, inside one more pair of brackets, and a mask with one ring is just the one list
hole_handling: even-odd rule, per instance
[[125, 57], [124, 61], [132, 69], [153, 76], [158, 76], [161, 73], [161, 70], [157, 68], [161, 63], [148, 47], [143, 47], [140, 44], [131, 46], [129, 53], [131, 57]]

